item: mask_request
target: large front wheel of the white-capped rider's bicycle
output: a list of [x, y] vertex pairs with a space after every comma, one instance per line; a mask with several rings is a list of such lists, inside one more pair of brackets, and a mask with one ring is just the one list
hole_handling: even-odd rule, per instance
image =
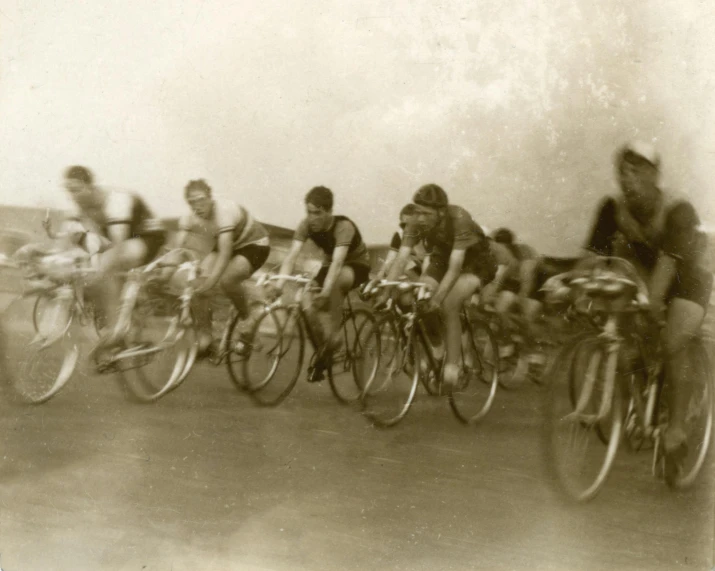
[[[590, 434], [591, 432], [596, 432], [597, 423], [587, 423], [583, 420], [583, 417], [568, 416], [574, 412], [574, 398], [580, 396], [580, 393], [573, 394], [573, 378], [581, 372], [577, 367], [577, 352], [580, 350], [586, 351], [585, 354], [588, 357], [586, 371], [592, 371], [598, 375], [597, 380], [594, 381], [595, 383], [602, 383], [605, 379], [601, 377], [604, 374], [609, 374], [609, 371], [614, 371], [615, 374], [618, 355], [617, 353], [608, 353], [604, 344], [597, 337], [593, 335], [579, 336], [567, 344], [554, 359], [549, 371], [551, 382], [546, 398], [546, 406], [544, 407], [545, 418], [543, 425], [546, 437], [547, 465], [552, 471], [559, 489], [574, 501], [586, 502], [596, 497], [603, 488], [618, 453], [623, 430], [623, 394], [618, 379], [614, 378], [611, 410], [607, 419], [608, 439], [606, 445], [603, 444], [597, 434]], [[603, 358], [604, 356], [606, 357], [605, 359]], [[592, 410], [597, 410], [599, 405], [600, 401], [592, 407]], [[602, 427], [605, 427], [605, 422], [601, 422], [604, 423]], [[574, 442], [576, 438], [581, 436], [584, 437], [584, 441], [587, 443], [591, 441], [597, 443], [596, 452], [589, 455], [589, 459], [595, 458], [595, 462], [593, 462], [595, 475], [588, 475], [582, 478], [584, 470], [581, 467], [574, 471], [576, 472], [575, 474], [571, 473], [570, 466], [566, 464], [572, 462], [577, 455], [565, 449], [566, 446], [562, 443], [561, 438], [562, 429], [571, 432], [566, 438], [568, 443]], [[576, 438], [574, 435], [576, 435]], [[605, 453], [602, 454], [604, 450]], [[578, 456], [586, 460], [587, 454], [579, 453]]]

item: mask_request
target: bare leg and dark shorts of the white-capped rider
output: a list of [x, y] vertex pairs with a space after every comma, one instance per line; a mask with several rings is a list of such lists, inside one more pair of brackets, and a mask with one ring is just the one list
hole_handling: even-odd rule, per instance
[[686, 439], [685, 416], [693, 382], [688, 346], [705, 318], [711, 290], [710, 274], [696, 268], [680, 268], [670, 291], [663, 331], [670, 409], [664, 439], [666, 452], [681, 448]]

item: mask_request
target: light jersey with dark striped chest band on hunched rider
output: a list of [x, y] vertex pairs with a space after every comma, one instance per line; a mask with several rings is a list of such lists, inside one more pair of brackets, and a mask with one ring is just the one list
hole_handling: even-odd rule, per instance
[[233, 251], [245, 246], [268, 246], [268, 231], [238, 204], [230, 200], [215, 198], [213, 211], [208, 220], [196, 216], [193, 212], [179, 219], [179, 230], [199, 235], [209, 235], [218, 241], [221, 234], [233, 234]]

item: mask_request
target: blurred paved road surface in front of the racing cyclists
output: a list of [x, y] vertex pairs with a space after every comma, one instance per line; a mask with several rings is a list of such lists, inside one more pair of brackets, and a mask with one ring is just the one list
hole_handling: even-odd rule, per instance
[[561, 500], [536, 387], [478, 427], [420, 396], [391, 430], [303, 379], [254, 406], [198, 366], [154, 405], [86, 372], [39, 407], [0, 403], [0, 566], [26, 570], [710, 569], [712, 462], [673, 493], [650, 455]]

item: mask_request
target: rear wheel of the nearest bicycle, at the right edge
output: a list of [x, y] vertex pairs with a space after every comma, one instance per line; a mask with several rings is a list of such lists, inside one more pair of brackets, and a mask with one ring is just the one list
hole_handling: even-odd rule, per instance
[[697, 480], [710, 451], [713, 426], [713, 386], [710, 359], [701, 340], [689, 347], [691, 391], [685, 416], [688, 453], [681, 470], [672, 482], [673, 488], [688, 488]]

